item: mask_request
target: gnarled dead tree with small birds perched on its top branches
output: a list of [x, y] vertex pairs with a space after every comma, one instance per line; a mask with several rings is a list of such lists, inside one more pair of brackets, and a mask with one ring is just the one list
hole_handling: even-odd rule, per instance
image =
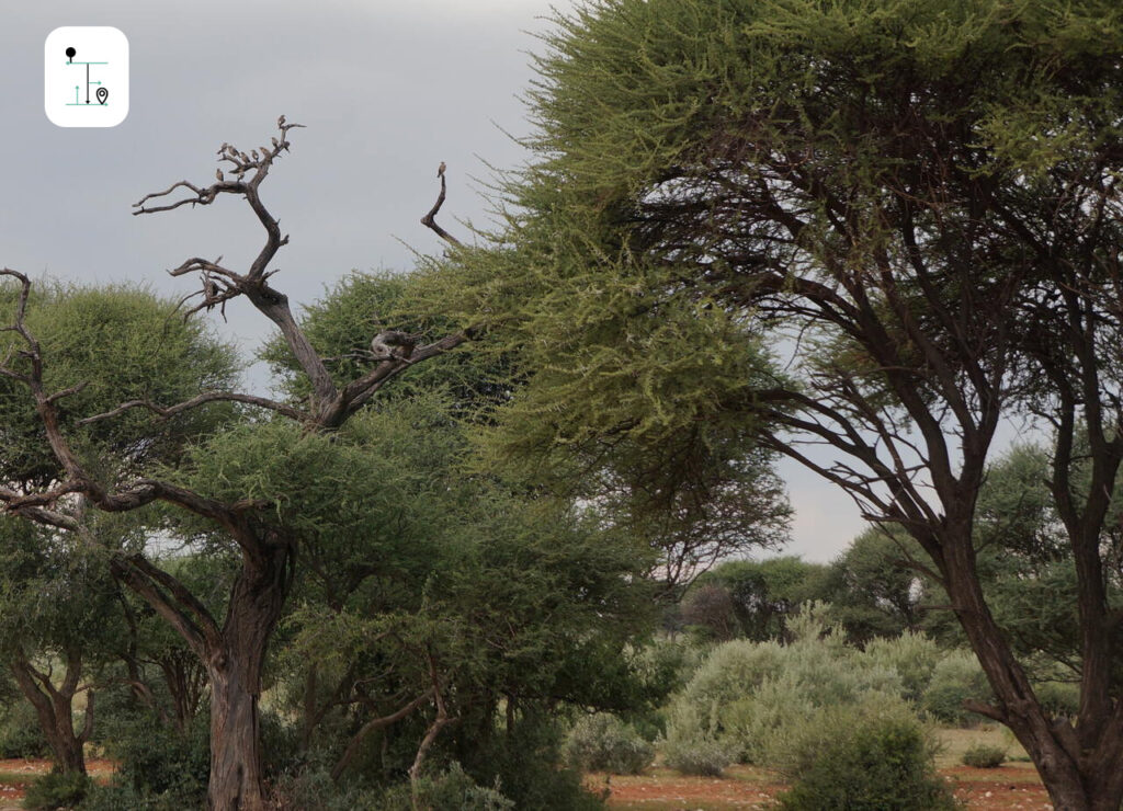
[[[227, 194], [246, 201], [265, 230], [265, 243], [248, 268], [228, 267], [222, 264], [221, 257], [213, 261], [192, 257], [170, 274], [173, 277], [199, 275], [200, 289], [181, 302], [199, 298], [186, 311], [188, 316], [214, 307], [221, 312], [227, 302], [239, 296], [249, 299], [280, 330], [308, 378], [312, 389], [308, 404], [296, 408], [256, 395], [206, 391], [171, 405], [129, 400], [108, 412], [84, 417], [79, 421], [80, 424], [110, 420], [133, 408], [145, 408], [166, 418], [207, 403], [227, 400], [273, 411], [301, 423], [307, 431], [331, 431], [343, 425], [404, 369], [442, 354], [468, 339], [466, 333], [457, 332], [412, 347], [408, 354], [387, 352], [385, 357], [376, 358], [369, 370], [356, 380], [336, 386], [327, 370], [326, 359], [316, 351], [293, 316], [287, 296], [271, 284], [271, 278], [277, 273], [271, 264], [287, 243], [289, 237], [282, 234], [277, 219], [263, 203], [261, 186], [282, 153], [289, 151], [291, 130], [300, 126], [287, 123], [282, 116], [277, 120], [279, 136], [272, 138], [272, 146], [252, 149], [249, 154], [223, 144], [218, 151], [221, 166], [216, 172], [216, 182], [201, 185], [179, 181], [164, 191], [146, 194], [134, 205], [134, 214], [173, 211], [186, 205], [210, 205]], [[458, 245], [432, 221], [445, 201], [444, 174], [440, 182], [440, 195], [427, 214], [426, 224], [446, 241]], [[58, 411], [58, 402], [80, 390], [81, 385], [60, 391], [46, 390], [43, 348], [26, 325], [30, 280], [8, 268], [0, 270], [0, 277], [12, 278], [20, 285], [12, 322], [2, 329], [15, 332], [21, 344], [20, 349], [0, 361], [0, 375], [27, 387], [60, 466], [53, 487], [38, 492], [0, 487], [0, 503], [8, 512], [28, 519], [76, 529], [80, 522], [66, 509], [67, 496], [80, 494], [92, 507], [118, 513], [158, 500], [208, 519], [237, 544], [241, 553], [241, 569], [231, 588], [227, 616], [221, 623], [182, 582], [144, 555], [117, 555], [111, 568], [122, 583], [175, 628], [207, 670], [211, 690], [209, 808], [220, 811], [263, 809], [266, 801], [262, 786], [257, 707], [262, 666], [292, 583], [300, 538], [277, 523], [267, 509], [268, 505], [259, 499], [226, 503], [154, 478], [140, 478], [111, 487], [91, 474], [74, 452]]]

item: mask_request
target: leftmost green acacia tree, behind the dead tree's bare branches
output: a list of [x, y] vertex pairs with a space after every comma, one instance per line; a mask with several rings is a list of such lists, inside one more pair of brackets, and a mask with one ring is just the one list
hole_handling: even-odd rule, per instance
[[[18, 294], [0, 291], [8, 305]], [[230, 348], [173, 313], [173, 303], [140, 288], [44, 283], [27, 302], [26, 317], [55, 361], [46, 385], [71, 389], [61, 418], [111, 408], [126, 391], [181, 398], [228, 385], [237, 370]], [[29, 514], [43, 519], [37, 525], [3, 519], [3, 655], [35, 707], [57, 768], [84, 772], [83, 744], [95, 718], [93, 685], [112, 681], [110, 663], [126, 653], [119, 645], [126, 636], [119, 586], [109, 561], [143, 550], [145, 532], [131, 518], [92, 514], [79, 494], [64, 497], [62, 513], [35, 506], [42, 504], [33, 496], [37, 488], [57, 485], [58, 466], [34, 404], [7, 376], [0, 379], [0, 413], [6, 500], [28, 505]], [[155, 431], [147, 418], [90, 425], [75, 431], [73, 441], [99, 481], [109, 482], [156, 462], [174, 463], [186, 444], [229, 416], [218, 404]], [[83, 694], [84, 720], [75, 728], [74, 702]]]

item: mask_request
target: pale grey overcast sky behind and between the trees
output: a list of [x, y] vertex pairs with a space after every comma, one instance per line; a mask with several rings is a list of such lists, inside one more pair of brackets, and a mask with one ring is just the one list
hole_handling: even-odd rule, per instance
[[[263, 199], [290, 245], [274, 280], [310, 302], [353, 268], [404, 269], [410, 247], [439, 250], [419, 219], [448, 164], [454, 216], [486, 219], [472, 178], [486, 164], [527, 155], [519, 94], [527, 52], [550, 6], [568, 0], [316, 0], [314, 2], [115, 2], [52, 0], [6, 6], [0, 26], [0, 265], [91, 282], [145, 280], [192, 292], [164, 273], [192, 256], [245, 267], [262, 230], [244, 201], [133, 216], [144, 194], [179, 179], [210, 183], [216, 150], [248, 151], [290, 135]], [[129, 40], [130, 104], [115, 128], [58, 128], [44, 112], [44, 40], [60, 26], [113, 26]], [[81, 57], [77, 57], [81, 58]], [[506, 135], [510, 133], [510, 135]], [[223, 334], [252, 351], [268, 323], [245, 303], [227, 308]], [[849, 499], [793, 466], [783, 472], [796, 508], [787, 552], [829, 560], [860, 531]]]

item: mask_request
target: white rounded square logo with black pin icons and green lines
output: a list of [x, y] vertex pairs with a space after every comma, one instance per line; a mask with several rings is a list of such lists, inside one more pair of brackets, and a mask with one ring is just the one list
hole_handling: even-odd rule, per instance
[[58, 127], [116, 127], [129, 114], [129, 40], [110, 26], [64, 26], [43, 46], [44, 108]]

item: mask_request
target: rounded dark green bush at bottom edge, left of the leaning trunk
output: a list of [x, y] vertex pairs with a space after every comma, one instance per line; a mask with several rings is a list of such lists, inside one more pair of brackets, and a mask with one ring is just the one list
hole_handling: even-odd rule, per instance
[[778, 798], [784, 811], [958, 808], [935, 773], [931, 738], [903, 703], [824, 710], [792, 737], [780, 768], [792, 785]]

